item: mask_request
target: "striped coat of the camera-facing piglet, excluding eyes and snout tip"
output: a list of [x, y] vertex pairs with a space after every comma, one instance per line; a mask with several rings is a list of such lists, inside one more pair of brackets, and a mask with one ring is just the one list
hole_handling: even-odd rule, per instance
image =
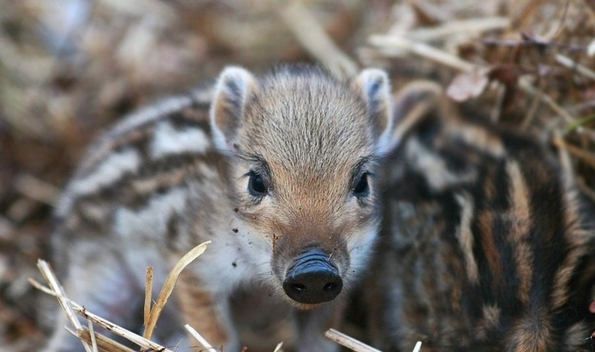
[[[365, 197], [352, 189], [361, 173], [377, 172], [380, 135], [390, 135], [387, 84], [378, 70], [350, 84], [311, 67], [258, 78], [227, 68], [212, 89], [125, 118], [93, 144], [58, 205], [52, 247], [68, 296], [140, 332], [146, 266], [161, 287], [175, 260], [212, 240], [181, 276], [178, 304], [166, 307], [184, 322], [160, 320], [161, 341], [183, 341], [190, 323], [229, 351], [296, 339], [296, 350], [335, 350], [323, 332], [347, 293], [300, 305], [282, 283], [313, 247], [337, 266], [343, 291], [362, 276], [380, 222], [377, 184]], [[266, 197], [248, 190], [255, 169], [270, 178]], [[244, 310], [271, 307], [246, 319]], [[62, 325], [47, 351], [80, 350]], [[254, 338], [255, 329], [270, 338]]]

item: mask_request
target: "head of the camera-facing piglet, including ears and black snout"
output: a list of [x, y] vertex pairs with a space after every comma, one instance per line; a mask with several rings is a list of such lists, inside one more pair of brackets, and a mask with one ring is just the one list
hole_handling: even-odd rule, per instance
[[224, 70], [211, 123], [232, 194], [271, 242], [271, 270], [301, 307], [333, 300], [367, 262], [378, 223], [376, 160], [390, 144], [389, 84], [365, 70], [342, 83], [315, 68], [256, 79]]

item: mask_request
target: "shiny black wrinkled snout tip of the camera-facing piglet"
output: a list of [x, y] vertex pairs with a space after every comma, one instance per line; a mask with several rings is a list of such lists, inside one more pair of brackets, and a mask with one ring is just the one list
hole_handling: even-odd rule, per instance
[[322, 303], [332, 300], [343, 289], [339, 271], [324, 252], [312, 249], [300, 254], [287, 271], [283, 290], [299, 303]]

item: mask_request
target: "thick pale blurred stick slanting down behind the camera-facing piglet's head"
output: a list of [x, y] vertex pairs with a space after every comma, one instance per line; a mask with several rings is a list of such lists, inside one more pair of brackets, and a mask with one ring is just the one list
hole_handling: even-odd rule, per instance
[[358, 65], [343, 52], [300, 1], [280, 10], [281, 18], [312, 56], [339, 78], [355, 76]]

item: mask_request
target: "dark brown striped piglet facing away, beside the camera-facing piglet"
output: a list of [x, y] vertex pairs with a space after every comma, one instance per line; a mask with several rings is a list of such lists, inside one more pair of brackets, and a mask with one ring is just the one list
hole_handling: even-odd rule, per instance
[[397, 100], [420, 91], [432, 105], [389, 160], [364, 288], [375, 345], [591, 351], [593, 204], [530, 137], [460, 117], [427, 84]]

